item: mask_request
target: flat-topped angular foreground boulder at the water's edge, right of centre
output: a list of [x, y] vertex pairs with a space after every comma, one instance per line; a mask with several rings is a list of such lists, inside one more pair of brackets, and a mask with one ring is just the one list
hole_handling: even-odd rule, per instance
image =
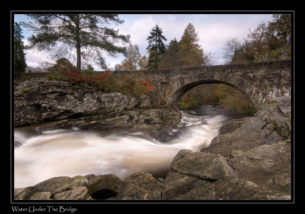
[[237, 177], [237, 173], [220, 154], [192, 152], [182, 149], [171, 163], [174, 172], [184, 173], [204, 180], [215, 181], [224, 176]]

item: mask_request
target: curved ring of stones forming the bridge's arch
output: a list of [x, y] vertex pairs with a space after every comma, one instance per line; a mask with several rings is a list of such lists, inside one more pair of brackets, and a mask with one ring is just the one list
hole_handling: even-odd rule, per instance
[[175, 81], [166, 93], [166, 105], [169, 108], [177, 108], [180, 98], [190, 89], [201, 84], [221, 83], [242, 91], [253, 103], [256, 110], [263, 107], [264, 100], [261, 92], [248, 81], [226, 72], [213, 72], [204, 75], [189, 74]]

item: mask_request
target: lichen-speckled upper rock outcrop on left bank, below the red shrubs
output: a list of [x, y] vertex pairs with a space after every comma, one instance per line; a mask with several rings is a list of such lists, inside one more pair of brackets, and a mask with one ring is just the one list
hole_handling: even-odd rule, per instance
[[30, 79], [15, 87], [14, 123], [15, 126], [30, 125], [80, 114], [132, 109], [140, 104], [139, 99], [118, 92], [103, 94], [90, 87], [76, 89], [58, 79]]

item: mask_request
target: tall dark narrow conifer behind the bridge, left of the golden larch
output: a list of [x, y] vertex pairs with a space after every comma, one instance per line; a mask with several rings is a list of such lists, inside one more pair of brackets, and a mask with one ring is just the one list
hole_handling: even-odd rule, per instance
[[152, 31], [149, 32], [150, 36], [147, 37], [148, 47], [146, 50], [149, 52], [148, 57], [148, 68], [149, 69], [158, 69], [158, 62], [160, 62], [160, 56], [165, 53], [165, 45], [162, 40], [167, 41], [167, 39], [162, 35], [163, 31], [156, 25], [152, 28]]

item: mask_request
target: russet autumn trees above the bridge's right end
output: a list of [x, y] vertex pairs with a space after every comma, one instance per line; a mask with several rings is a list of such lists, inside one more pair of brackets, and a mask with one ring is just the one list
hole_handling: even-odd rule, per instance
[[227, 63], [259, 62], [291, 57], [291, 14], [274, 14], [273, 20], [261, 22], [243, 42], [228, 40], [223, 47]]

